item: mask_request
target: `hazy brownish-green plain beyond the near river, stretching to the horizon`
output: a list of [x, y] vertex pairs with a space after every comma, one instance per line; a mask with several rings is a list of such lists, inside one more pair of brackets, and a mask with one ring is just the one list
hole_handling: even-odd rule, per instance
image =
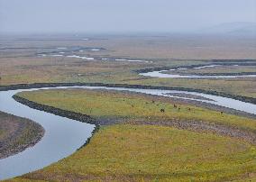
[[[25, 37], [1, 40], [0, 86], [19, 83], [100, 82], [151, 86], [179, 86], [215, 90], [237, 96], [256, 97], [256, 78], [187, 79], [154, 78], [139, 76], [134, 70], [143, 68], [177, 67], [210, 64], [212, 59], [255, 59], [253, 39], [191, 36], [106, 36], [92, 37]], [[69, 41], [65, 41], [69, 40]], [[67, 50], [58, 50], [66, 47]], [[71, 51], [74, 47], [101, 47], [102, 51]], [[8, 49], [6, 49], [8, 48]], [[85, 60], [67, 57], [38, 57], [41, 52], [69, 51], [101, 58], [149, 59], [152, 62]], [[239, 61], [238, 61], [239, 62]], [[255, 61], [254, 61], [255, 63]], [[222, 72], [251, 72], [254, 67]], [[191, 72], [187, 70], [186, 73]], [[199, 71], [199, 70], [197, 70]], [[204, 72], [204, 69], [200, 71]], [[206, 72], [218, 72], [206, 69]]]

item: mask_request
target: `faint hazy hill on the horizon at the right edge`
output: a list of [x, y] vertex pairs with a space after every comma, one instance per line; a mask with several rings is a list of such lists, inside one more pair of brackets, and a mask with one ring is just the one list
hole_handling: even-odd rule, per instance
[[256, 23], [221, 23], [198, 31], [199, 33], [256, 36]]

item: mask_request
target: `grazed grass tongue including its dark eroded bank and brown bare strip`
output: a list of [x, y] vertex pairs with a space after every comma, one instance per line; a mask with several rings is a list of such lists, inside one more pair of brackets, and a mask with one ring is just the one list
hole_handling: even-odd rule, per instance
[[[80, 122], [88, 121], [97, 126], [118, 123], [172, 126], [182, 130], [211, 132], [256, 143], [256, 125], [253, 123], [255, 115], [246, 115], [241, 112], [240, 115], [248, 117], [242, 118], [232, 109], [197, 101], [191, 103], [189, 100], [164, 96], [82, 88], [22, 92], [13, 97], [17, 102], [34, 109], [59, 114]], [[176, 105], [178, 108], [170, 105]], [[207, 114], [212, 118], [206, 117]], [[227, 118], [229, 121], [225, 121]], [[242, 124], [245, 120], [252, 124], [247, 129], [245, 129], [246, 124]]]

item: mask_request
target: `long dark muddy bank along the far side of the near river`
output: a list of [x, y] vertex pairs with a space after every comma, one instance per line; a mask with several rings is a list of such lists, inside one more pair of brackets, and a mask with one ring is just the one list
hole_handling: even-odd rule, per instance
[[41, 87], [57, 87], [57, 86], [109, 86], [109, 87], [126, 87], [126, 88], [142, 88], [142, 89], [165, 89], [165, 90], [178, 90], [188, 92], [200, 92], [203, 94], [224, 96], [233, 98], [242, 102], [251, 103], [256, 105], [256, 98], [249, 96], [236, 96], [224, 92], [217, 92], [212, 90], [203, 90], [197, 88], [186, 87], [171, 87], [171, 86], [142, 86], [142, 85], [128, 85], [128, 84], [104, 84], [104, 83], [34, 83], [34, 84], [17, 84], [10, 86], [0, 86], [0, 91], [27, 89], [27, 88], [41, 88]]

